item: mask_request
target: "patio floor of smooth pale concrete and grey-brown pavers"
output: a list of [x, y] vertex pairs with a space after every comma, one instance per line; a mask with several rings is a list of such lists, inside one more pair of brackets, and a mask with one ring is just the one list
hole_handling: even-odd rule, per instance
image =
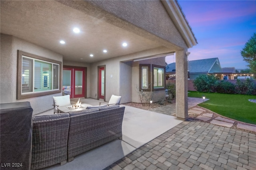
[[[201, 102], [202, 99], [188, 99], [190, 114], [206, 114], [194, 107]], [[82, 103], [98, 105], [98, 100], [82, 99]], [[255, 170], [255, 133], [215, 125], [209, 123], [209, 119], [206, 122], [190, 119], [180, 121], [170, 116], [175, 114], [175, 105], [150, 111], [125, 107], [122, 140], [114, 140], [80, 154], [63, 166], [57, 164], [45, 169]], [[204, 115], [207, 116], [209, 115]]]

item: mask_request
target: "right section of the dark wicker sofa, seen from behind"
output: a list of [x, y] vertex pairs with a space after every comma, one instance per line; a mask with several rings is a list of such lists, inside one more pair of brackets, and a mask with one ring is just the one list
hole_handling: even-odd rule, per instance
[[68, 161], [74, 156], [115, 139], [122, 139], [122, 121], [125, 107], [105, 106], [99, 111], [70, 113]]

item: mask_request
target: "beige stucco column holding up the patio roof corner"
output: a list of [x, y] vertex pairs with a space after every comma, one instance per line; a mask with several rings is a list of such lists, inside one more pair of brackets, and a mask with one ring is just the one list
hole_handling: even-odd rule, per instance
[[186, 50], [176, 51], [176, 117], [188, 118], [188, 56]]

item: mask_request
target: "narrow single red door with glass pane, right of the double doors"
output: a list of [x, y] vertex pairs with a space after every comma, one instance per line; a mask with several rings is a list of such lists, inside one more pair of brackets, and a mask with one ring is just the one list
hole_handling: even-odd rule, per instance
[[98, 99], [105, 101], [105, 66], [98, 67]]

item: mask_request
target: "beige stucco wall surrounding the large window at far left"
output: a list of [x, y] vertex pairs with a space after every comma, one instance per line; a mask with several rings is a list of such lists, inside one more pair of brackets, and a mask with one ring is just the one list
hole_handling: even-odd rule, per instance
[[1, 34], [1, 103], [29, 101], [33, 108], [33, 115], [53, 108], [53, 96], [62, 95], [56, 93], [41, 97], [28, 99], [16, 99], [16, 80], [17, 80], [17, 50], [39, 55], [42, 57], [62, 61], [62, 55], [26, 42], [14, 36]]

